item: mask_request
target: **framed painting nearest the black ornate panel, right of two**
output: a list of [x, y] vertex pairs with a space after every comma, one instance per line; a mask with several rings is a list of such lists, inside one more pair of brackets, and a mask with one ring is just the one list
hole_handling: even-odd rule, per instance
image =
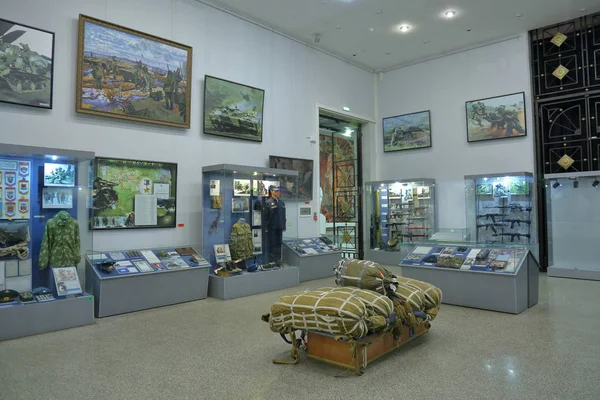
[[527, 135], [523, 92], [468, 101], [466, 108], [469, 142]]

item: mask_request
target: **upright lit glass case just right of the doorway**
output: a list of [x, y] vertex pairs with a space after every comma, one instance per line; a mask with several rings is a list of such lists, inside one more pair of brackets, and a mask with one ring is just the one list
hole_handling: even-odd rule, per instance
[[436, 232], [435, 180], [405, 179], [366, 184], [370, 249], [400, 251]]

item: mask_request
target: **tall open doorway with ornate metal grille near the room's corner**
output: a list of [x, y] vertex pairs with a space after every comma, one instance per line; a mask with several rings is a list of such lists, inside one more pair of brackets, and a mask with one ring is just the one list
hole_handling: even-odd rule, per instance
[[361, 124], [319, 114], [320, 233], [344, 257], [363, 258]]

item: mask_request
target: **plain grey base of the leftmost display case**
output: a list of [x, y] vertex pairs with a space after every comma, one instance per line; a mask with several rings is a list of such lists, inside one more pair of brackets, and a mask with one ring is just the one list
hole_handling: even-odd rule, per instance
[[15, 339], [91, 325], [94, 323], [94, 298], [83, 293], [43, 303], [0, 305], [0, 340]]

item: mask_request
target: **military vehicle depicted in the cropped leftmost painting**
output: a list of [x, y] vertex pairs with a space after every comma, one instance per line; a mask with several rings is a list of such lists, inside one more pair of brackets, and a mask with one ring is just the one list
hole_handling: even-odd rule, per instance
[[51, 63], [20, 43], [0, 41], [0, 85], [13, 92], [41, 92], [50, 87]]

